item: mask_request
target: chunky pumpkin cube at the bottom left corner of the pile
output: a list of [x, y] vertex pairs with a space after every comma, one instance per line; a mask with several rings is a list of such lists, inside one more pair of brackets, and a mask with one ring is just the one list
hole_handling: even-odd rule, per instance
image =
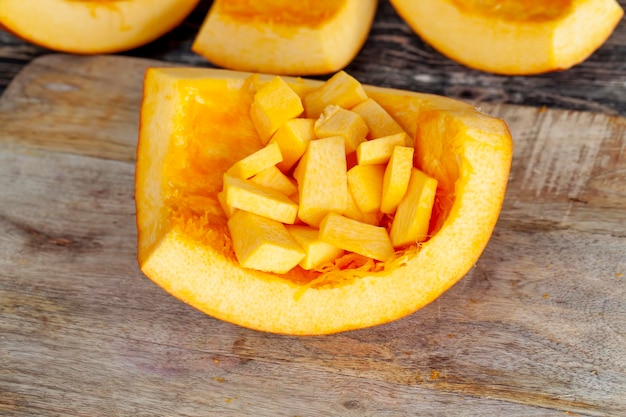
[[305, 256], [285, 225], [276, 220], [240, 210], [228, 220], [228, 230], [244, 268], [284, 274]]

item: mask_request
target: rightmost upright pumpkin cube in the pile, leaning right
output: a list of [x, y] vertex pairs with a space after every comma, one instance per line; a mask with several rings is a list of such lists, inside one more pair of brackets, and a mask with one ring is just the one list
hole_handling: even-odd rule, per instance
[[412, 168], [407, 192], [391, 224], [389, 234], [394, 248], [423, 242], [428, 238], [436, 193], [437, 180]]

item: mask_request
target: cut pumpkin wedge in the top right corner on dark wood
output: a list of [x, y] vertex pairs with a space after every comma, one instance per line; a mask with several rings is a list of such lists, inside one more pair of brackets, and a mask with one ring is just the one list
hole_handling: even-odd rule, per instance
[[466, 66], [508, 75], [568, 69], [611, 35], [615, 0], [391, 0], [435, 49]]

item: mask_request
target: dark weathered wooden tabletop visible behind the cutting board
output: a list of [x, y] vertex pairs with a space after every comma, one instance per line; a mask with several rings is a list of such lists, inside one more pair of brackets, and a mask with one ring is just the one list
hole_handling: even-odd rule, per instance
[[[626, 0], [618, 1], [626, 8]], [[124, 55], [210, 66], [191, 51], [191, 44], [211, 3], [202, 0], [181, 26]], [[0, 32], [0, 94], [24, 65], [48, 53]], [[368, 40], [347, 70], [370, 84], [465, 100], [626, 116], [625, 56], [626, 19], [598, 51], [568, 71], [530, 77], [488, 74], [465, 68], [435, 51], [411, 31], [388, 1], [380, 0]]]

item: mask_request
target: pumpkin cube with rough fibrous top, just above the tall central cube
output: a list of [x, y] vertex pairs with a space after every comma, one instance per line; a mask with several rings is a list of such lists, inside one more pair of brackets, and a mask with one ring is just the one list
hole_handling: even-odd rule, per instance
[[333, 104], [326, 106], [315, 122], [315, 135], [318, 138], [343, 137], [346, 154], [356, 151], [357, 146], [365, 141], [367, 132], [367, 125], [361, 116]]

